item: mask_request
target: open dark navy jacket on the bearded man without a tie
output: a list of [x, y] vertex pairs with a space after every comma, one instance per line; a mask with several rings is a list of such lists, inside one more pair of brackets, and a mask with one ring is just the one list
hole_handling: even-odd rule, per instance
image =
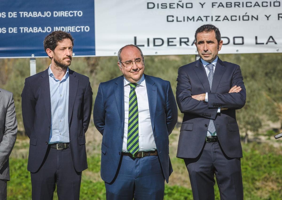
[[[21, 94], [23, 125], [30, 138], [27, 169], [36, 172], [46, 154], [50, 137], [51, 100], [48, 69], [25, 79]], [[89, 78], [69, 69], [69, 137], [76, 171], [87, 168], [85, 132], [92, 110]]]

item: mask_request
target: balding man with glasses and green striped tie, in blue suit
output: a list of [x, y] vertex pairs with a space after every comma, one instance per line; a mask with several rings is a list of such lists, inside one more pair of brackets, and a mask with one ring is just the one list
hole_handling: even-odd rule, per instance
[[107, 199], [163, 199], [177, 122], [170, 83], [144, 75], [143, 53], [132, 44], [119, 50], [118, 66], [123, 76], [100, 84], [93, 110]]

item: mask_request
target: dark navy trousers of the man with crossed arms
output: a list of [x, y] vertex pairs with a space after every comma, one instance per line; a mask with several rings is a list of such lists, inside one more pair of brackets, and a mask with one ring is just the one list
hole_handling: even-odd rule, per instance
[[193, 199], [215, 199], [214, 174], [221, 200], [243, 200], [243, 182], [240, 158], [229, 158], [219, 142], [206, 142], [197, 158], [185, 158]]

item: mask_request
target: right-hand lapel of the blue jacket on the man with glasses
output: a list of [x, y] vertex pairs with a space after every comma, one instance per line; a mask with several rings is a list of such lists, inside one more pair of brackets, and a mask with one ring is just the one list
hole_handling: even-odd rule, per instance
[[145, 75], [145, 82], [147, 87], [147, 95], [149, 101], [149, 111], [151, 116], [152, 129], [155, 128], [155, 114], [157, 109], [157, 86], [150, 76]]

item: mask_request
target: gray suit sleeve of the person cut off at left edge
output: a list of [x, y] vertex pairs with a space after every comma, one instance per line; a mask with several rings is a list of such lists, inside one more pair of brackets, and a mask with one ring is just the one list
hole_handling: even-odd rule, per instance
[[[6, 93], [9, 94], [9, 93]], [[5, 95], [6, 95], [5, 94]], [[16, 142], [17, 136], [17, 119], [16, 119], [16, 111], [15, 111], [15, 104], [13, 99], [13, 94], [10, 93], [10, 96], [7, 97], [9, 99], [7, 112], [5, 117], [5, 131], [3, 135], [3, 139], [0, 142], [0, 170], [5, 165], [6, 161], [8, 160], [14, 144]]]

